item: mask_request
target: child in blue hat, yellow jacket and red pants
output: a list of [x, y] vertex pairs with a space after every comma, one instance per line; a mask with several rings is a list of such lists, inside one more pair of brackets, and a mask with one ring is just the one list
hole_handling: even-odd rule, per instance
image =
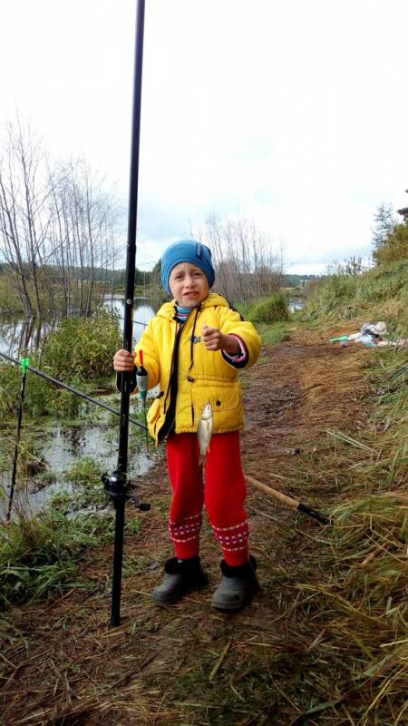
[[[161, 282], [172, 295], [161, 306], [136, 347], [134, 356], [118, 350], [116, 371], [139, 363], [149, 374], [149, 388], [160, 387], [148, 413], [156, 445], [166, 439], [173, 496], [169, 530], [175, 557], [165, 563], [155, 602], [177, 603], [208, 584], [199, 561], [202, 508], [219, 540], [224, 559], [213, 607], [241, 610], [257, 593], [256, 561], [248, 554], [247, 494], [241, 468], [239, 429], [243, 427], [238, 369], [252, 366], [261, 341], [252, 323], [241, 319], [228, 301], [209, 292], [214, 283], [211, 252], [194, 240], [170, 245], [161, 258]], [[214, 433], [203, 466], [199, 464], [197, 428], [207, 402]]]

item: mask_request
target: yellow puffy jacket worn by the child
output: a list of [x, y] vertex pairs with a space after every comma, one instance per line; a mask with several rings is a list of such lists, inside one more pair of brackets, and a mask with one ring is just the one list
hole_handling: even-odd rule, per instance
[[175, 320], [175, 300], [161, 306], [151, 319], [135, 349], [143, 351], [143, 365], [149, 375], [149, 388], [160, 387], [148, 412], [151, 437], [160, 441], [160, 428], [170, 406], [170, 379], [175, 369], [174, 351], [180, 330], [177, 361], [176, 434], [197, 431], [199, 417], [207, 401], [211, 403], [214, 431], [237, 431], [244, 426], [242, 393], [238, 369], [223, 358], [221, 351], [210, 351], [201, 341], [203, 323], [219, 328], [223, 333], [236, 333], [248, 348], [248, 366], [256, 363], [261, 339], [252, 323], [242, 320], [239, 313], [229, 307], [228, 301], [217, 293], [209, 293], [198, 308], [193, 308], [180, 329]]

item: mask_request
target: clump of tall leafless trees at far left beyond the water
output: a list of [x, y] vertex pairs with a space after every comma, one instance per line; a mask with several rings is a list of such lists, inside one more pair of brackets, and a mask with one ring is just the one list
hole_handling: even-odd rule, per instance
[[89, 315], [107, 291], [118, 213], [83, 160], [56, 163], [17, 117], [0, 159], [0, 262], [24, 313]]

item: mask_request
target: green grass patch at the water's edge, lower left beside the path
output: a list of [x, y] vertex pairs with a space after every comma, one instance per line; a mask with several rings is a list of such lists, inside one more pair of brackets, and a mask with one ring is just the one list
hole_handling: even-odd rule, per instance
[[[83, 552], [112, 542], [114, 512], [101, 482], [101, 466], [90, 458], [65, 476], [73, 493], [62, 489], [39, 515], [20, 515], [0, 530], [0, 610], [12, 603], [54, 597], [66, 588], [87, 587], [77, 575]], [[125, 532], [138, 529], [130, 519]]]

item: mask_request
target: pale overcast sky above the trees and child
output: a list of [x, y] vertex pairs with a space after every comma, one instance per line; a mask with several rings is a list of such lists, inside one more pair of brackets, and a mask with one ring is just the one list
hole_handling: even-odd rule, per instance
[[[0, 0], [0, 135], [18, 110], [127, 205], [136, 0]], [[137, 265], [209, 212], [287, 270], [367, 257], [408, 197], [407, 0], [146, 0]]]

